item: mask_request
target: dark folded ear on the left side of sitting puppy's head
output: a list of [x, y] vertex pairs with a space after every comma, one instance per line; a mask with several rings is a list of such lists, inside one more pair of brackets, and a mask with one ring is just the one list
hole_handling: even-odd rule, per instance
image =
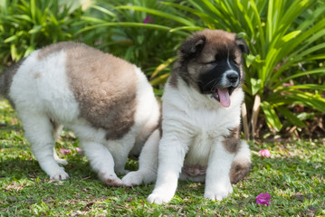
[[204, 35], [194, 35], [179, 47], [179, 52], [184, 58], [195, 57], [205, 46], [206, 37]]

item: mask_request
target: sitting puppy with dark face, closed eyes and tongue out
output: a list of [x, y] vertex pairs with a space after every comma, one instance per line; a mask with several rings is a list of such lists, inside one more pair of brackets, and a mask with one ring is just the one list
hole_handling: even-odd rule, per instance
[[124, 184], [146, 182], [158, 167], [150, 203], [168, 203], [178, 178], [206, 182], [204, 196], [211, 200], [233, 192], [231, 184], [251, 165], [249, 146], [239, 137], [243, 52], [243, 39], [220, 30], [196, 32], [180, 46], [163, 95], [159, 146], [141, 153], [139, 171], [124, 176]]

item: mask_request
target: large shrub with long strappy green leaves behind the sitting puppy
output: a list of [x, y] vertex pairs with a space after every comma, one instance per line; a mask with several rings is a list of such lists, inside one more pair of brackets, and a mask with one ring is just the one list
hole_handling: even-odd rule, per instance
[[[285, 118], [291, 125], [303, 127], [305, 116], [292, 112], [292, 106], [303, 105], [325, 112], [321, 96], [323, 79], [318, 83], [301, 83], [308, 76], [321, 78], [325, 68], [318, 64], [325, 59], [325, 5], [316, 0], [258, 1], [202, 0], [164, 1], [162, 5], [177, 8], [178, 22], [169, 32], [193, 29], [223, 29], [238, 33], [248, 42], [251, 54], [246, 58], [246, 99], [244, 129], [255, 136], [259, 110], [263, 110], [268, 127], [279, 131]], [[146, 7], [125, 5], [119, 8], [148, 11]], [[188, 16], [187, 14], [193, 14]], [[167, 17], [167, 14], [163, 14]], [[197, 19], [197, 17], [199, 19]], [[321, 51], [321, 52], [320, 52]], [[248, 118], [247, 118], [248, 117]]]

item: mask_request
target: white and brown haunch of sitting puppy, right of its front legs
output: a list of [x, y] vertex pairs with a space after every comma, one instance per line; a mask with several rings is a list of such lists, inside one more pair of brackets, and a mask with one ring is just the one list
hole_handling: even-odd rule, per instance
[[238, 183], [251, 170], [251, 150], [245, 141], [241, 141], [238, 152], [234, 156], [229, 178], [232, 184]]

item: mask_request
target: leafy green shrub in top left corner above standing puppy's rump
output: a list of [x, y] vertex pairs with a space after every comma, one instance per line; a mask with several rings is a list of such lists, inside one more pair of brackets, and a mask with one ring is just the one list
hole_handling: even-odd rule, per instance
[[72, 40], [81, 8], [57, 0], [4, 0], [0, 4], [0, 59], [18, 61], [36, 48]]

